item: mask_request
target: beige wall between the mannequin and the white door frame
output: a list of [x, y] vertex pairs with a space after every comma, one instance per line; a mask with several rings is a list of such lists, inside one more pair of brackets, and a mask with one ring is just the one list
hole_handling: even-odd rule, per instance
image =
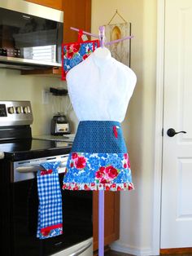
[[131, 254], [151, 254], [156, 0], [92, 0], [92, 33], [98, 33], [98, 26], [107, 24], [116, 9], [132, 23], [131, 67], [137, 86], [123, 123], [135, 190], [121, 192], [120, 240], [112, 247]]

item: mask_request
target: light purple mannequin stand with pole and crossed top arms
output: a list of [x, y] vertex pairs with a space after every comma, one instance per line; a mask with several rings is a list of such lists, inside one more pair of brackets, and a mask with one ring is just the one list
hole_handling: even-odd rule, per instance
[[[72, 28], [72, 30], [80, 31], [80, 29]], [[112, 43], [121, 42], [126, 39], [131, 39], [133, 36], [129, 36], [126, 38], [120, 38], [111, 42], [104, 42], [105, 39], [105, 27], [100, 26], [98, 29], [98, 35], [93, 33], [88, 33], [82, 31], [82, 33], [92, 36], [94, 38], [98, 38], [100, 42], [100, 47], [104, 47], [107, 45], [111, 45]], [[98, 191], [98, 256], [104, 256], [104, 190]]]

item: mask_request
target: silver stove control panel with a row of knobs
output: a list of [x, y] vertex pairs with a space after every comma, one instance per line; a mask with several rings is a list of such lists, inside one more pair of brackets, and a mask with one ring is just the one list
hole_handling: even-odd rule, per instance
[[0, 126], [24, 126], [32, 123], [30, 101], [0, 101]]

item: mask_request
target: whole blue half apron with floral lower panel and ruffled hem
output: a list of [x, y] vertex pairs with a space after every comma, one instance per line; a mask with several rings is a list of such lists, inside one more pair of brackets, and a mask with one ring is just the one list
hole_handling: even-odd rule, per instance
[[129, 155], [118, 121], [80, 121], [63, 189], [133, 189]]

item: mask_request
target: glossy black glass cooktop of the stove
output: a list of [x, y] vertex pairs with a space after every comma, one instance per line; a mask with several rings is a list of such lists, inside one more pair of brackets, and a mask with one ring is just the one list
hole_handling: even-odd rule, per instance
[[0, 152], [11, 161], [28, 160], [68, 154], [72, 143], [43, 139], [14, 139], [0, 141]]

